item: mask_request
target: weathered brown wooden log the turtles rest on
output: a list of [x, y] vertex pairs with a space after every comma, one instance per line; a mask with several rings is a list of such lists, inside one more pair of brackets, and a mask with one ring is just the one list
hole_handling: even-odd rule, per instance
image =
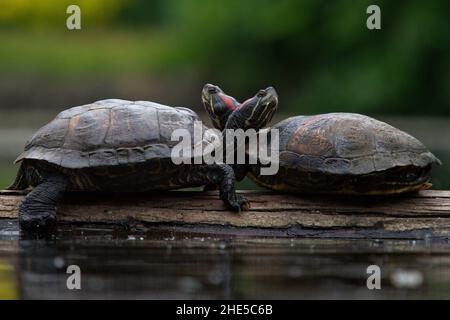
[[[173, 225], [282, 230], [298, 236], [448, 237], [450, 191], [429, 190], [396, 197], [296, 196], [245, 192], [249, 211], [225, 209], [215, 192], [161, 194], [71, 194], [58, 207], [62, 223]], [[0, 193], [0, 218], [16, 218], [21, 194]], [[265, 230], [265, 231], [264, 231]], [[400, 235], [400, 236], [399, 236]]]

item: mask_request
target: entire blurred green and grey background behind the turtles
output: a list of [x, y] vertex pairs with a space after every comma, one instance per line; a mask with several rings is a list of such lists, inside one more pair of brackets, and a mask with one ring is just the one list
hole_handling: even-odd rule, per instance
[[[81, 30], [66, 28], [70, 4], [81, 8]], [[381, 30], [366, 28], [370, 4], [381, 8]], [[2, 0], [0, 187], [59, 111], [152, 100], [209, 123], [206, 82], [239, 100], [274, 86], [274, 121], [337, 111], [385, 120], [441, 158], [433, 182], [450, 188], [447, 0]]]

